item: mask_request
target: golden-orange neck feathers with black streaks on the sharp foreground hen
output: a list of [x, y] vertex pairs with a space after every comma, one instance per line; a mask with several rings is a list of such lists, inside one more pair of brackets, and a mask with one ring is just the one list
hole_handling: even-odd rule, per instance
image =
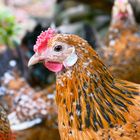
[[77, 63], [57, 75], [59, 126], [98, 131], [126, 123], [127, 105], [139, 93], [114, 80], [92, 49], [77, 49], [77, 54]]

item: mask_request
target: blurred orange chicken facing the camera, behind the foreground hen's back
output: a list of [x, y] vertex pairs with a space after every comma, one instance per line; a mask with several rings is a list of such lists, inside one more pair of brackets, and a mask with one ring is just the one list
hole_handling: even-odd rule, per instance
[[140, 29], [128, 0], [115, 0], [105, 46], [98, 51], [111, 73], [140, 83]]

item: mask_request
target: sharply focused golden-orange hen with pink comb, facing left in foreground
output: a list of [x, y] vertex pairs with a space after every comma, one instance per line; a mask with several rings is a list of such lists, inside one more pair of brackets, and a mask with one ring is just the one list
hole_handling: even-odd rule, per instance
[[115, 79], [82, 38], [48, 29], [28, 66], [43, 62], [56, 73], [62, 140], [140, 138], [140, 85]]

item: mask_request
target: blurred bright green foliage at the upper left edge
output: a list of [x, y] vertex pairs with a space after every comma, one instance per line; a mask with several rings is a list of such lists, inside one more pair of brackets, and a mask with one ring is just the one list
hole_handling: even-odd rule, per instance
[[17, 41], [19, 27], [15, 16], [9, 9], [0, 9], [0, 44], [14, 47], [13, 42]]

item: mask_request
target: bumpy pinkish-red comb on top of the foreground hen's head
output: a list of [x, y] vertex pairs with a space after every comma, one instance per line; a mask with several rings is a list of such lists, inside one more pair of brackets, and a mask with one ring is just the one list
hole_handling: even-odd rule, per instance
[[56, 34], [54, 29], [48, 28], [48, 30], [42, 32], [38, 37], [36, 44], [34, 45], [34, 52], [41, 53], [47, 47], [49, 39]]

